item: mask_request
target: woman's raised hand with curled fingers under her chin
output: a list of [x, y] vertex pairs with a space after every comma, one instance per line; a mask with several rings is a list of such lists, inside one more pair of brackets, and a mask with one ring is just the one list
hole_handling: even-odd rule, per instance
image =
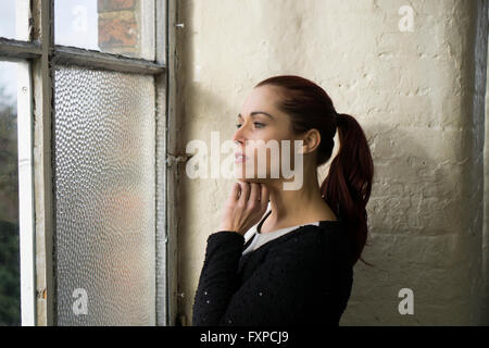
[[268, 206], [268, 189], [256, 183], [238, 182], [224, 207], [220, 231], [235, 231], [244, 235], [259, 223]]

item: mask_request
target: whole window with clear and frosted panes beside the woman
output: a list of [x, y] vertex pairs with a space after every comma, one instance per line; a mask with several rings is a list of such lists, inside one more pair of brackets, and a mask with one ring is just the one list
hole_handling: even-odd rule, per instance
[[166, 1], [5, 3], [0, 324], [166, 325]]

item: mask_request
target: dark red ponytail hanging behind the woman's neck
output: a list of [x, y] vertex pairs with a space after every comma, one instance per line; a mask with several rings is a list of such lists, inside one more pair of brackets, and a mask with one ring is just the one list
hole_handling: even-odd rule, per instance
[[337, 114], [339, 152], [321, 185], [321, 194], [337, 216], [346, 223], [352, 237], [354, 264], [361, 258], [367, 238], [367, 213], [374, 163], [365, 134], [356, 120]]

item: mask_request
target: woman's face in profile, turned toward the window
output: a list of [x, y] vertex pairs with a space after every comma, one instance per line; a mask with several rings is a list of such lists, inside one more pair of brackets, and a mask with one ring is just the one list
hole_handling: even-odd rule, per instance
[[[289, 116], [276, 108], [279, 100], [278, 87], [255, 87], [237, 116], [238, 129], [233, 137], [237, 144], [235, 169], [236, 176], [242, 181], [266, 183], [271, 178], [283, 178], [280, 167], [286, 154], [291, 163], [288, 169], [293, 169], [291, 140], [298, 137], [291, 132]], [[284, 154], [281, 140], [290, 144]]]

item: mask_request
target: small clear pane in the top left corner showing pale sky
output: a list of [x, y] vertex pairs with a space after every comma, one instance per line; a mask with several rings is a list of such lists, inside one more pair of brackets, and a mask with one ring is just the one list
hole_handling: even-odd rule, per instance
[[0, 37], [28, 40], [29, 0], [2, 0]]

